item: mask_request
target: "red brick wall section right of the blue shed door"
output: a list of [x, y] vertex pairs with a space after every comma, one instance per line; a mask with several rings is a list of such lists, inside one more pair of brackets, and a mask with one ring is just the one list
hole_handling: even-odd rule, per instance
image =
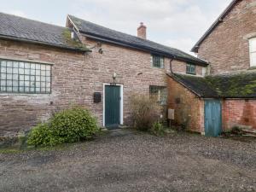
[[222, 116], [224, 130], [230, 130], [236, 125], [256, 130], [256, 101], [224, 100]]

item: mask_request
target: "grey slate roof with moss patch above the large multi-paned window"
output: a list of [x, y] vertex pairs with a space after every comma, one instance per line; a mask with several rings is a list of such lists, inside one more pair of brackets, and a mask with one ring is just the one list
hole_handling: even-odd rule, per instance
[[79, 41], [71, 39], [70, 34], [71, 30], [66, 27], [0, 13], [0, 38], [78, 51], [89, 50]]

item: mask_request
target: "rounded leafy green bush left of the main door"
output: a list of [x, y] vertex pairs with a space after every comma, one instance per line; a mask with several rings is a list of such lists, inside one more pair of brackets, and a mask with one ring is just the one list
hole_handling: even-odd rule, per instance
[[84, 108], [70, 108], [55, 113], [48, 124], [32, 128], [27, 143], [35, 146], [54, 146], [87, 140], [99, 131], [96, 118]]

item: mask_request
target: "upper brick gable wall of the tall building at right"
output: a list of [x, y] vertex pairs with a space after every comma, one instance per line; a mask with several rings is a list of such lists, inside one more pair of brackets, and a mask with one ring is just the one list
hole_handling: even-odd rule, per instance
[[253, 37], [256, 37], [256, 3], [243, 0], [201, 43], [198, 56], [210, 62], [212, 74], [247, 70], [248, 39]]

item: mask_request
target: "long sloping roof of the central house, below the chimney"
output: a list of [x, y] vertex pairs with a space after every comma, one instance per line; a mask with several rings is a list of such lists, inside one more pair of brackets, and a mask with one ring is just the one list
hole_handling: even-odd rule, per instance
[[84, 34], [87, 37], [99, 39], [113, 44], [128, 46], [131, 48], [143, 49], [151, 53], [165, 55], [178, 60], [189, 61], [195, 64], [207, 66], [206, 61], [202, 61], [201, 59], [189, 55], [179, 49], [157, 44], [147, 39], [137, 38], [136, 36], [132, 36], [124, 32], [117, 32], [107, 27], [91, 23], [90, 21], [79, 19], [73, 15], [68, 15], [67, 19], [73, 23], [73, 26], [75, 26], [81, 34]]

